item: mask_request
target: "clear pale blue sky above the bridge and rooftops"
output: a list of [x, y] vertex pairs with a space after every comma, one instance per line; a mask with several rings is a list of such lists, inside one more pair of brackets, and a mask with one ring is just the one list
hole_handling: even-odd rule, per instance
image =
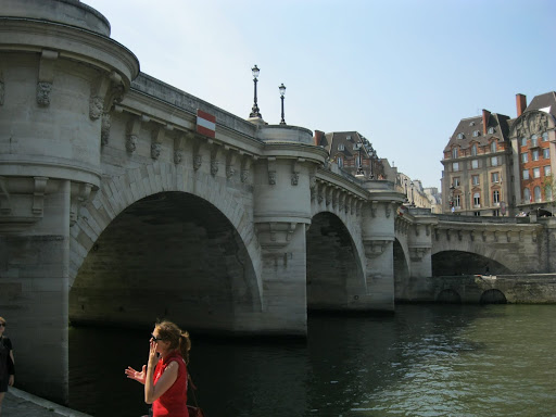
[[443, 150], [482, 109], [556, 90], [554, 0], [81, 0], [141, 72], [248, 118], [365, 136], [438, 187]]

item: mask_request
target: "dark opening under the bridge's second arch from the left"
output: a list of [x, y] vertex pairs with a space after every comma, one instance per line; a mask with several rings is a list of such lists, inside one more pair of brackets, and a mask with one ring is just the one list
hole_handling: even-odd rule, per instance
[[366, 290], [362, 261], [343, 222], [330, 212], [313, 216], [306, 248], [307, 309], [350, 309]]

